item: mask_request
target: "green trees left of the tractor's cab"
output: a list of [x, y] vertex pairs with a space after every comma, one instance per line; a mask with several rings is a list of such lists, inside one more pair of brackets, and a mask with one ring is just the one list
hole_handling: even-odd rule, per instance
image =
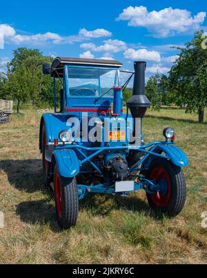
[[52, 107], [53, 81], [42, 73], [43, 63], [52, 63], [52, 57], [26, 47], [14, 50], [13, 57], [0, 74], [0, 98], [17, 101], [18, 114], [20, 104]]

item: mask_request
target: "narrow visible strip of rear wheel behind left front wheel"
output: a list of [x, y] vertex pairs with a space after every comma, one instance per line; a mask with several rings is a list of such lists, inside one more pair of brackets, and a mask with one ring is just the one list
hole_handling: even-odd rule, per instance
[[50, 185], [49, 171], [50, 171], [50, 162], [46, 160], [46, 148], [47, 148], [47, 136], [46, 136], [46, 127], [43, 125], [42, 129], [42, 140], [41, 140], [41, 149], [42, 149], [42, 167], [43, 167], [43, 180], [46, 186]]

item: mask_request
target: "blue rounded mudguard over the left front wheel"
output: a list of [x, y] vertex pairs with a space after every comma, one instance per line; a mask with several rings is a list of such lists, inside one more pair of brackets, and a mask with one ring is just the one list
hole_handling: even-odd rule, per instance
[[64, 178], [74, 178], [79, 174], [80, 165], [75, 151], [63, 149], [54, 151], [59, 174]]

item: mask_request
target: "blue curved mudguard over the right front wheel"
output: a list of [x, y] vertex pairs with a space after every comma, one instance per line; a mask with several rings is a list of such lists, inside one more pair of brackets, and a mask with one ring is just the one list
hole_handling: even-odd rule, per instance
[[[155, 149], [157, 153], [166, 153], [168, 159], [178, 167], [187, 167], [188, 166], [188, 158], [184, 151], [181, 151], [175, 145], [158, 145]], [[156, 158], [156, 156], [150, 156], [143, 164], [143, 167], [148, 168], [152, 161]]]

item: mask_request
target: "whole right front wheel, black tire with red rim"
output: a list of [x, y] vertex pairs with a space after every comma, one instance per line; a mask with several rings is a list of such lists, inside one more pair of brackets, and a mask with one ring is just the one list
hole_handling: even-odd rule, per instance
[[159, 192], [147, 193], [151, 208], [170, 217], [179, 215], [186, 202], [186, 179], [181, 168], [167, 160], [156, 158], [150, 164], [146, 178], [161, 186]]

